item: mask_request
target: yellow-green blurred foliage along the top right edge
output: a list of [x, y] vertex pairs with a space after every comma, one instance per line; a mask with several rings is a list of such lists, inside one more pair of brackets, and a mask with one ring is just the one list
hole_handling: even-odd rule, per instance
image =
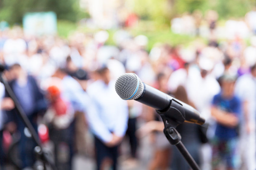
[[200, 10], [216, 10], [219, 18], [244, 17], [254, 0], [134, 0], [133, 10], [141, 19], [168, 23], [172, 17]]

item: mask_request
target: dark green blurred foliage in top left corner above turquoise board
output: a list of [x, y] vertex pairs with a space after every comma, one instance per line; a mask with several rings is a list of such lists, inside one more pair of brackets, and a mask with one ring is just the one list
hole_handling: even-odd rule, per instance
[[86, 17], [78, 0], [0, 0], [0, 19], [10, 24], [21, 23], [26, 12], [41, 11], [54, 11], [58, 19], [70, 21]]

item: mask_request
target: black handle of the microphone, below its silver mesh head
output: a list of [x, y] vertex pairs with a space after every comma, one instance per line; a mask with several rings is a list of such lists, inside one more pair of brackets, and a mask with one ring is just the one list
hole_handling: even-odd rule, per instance
[[145, 83], [143, 83], [143, 85], [143, 92], [139, 98], [135, 99], [136, 101], [153, 107], [160, 113], [165, 112], [169, 107], [174, 107], [182, 113], [185, 122], [197, 123], [200, 125], [204, 124], [205, 120], [201, 118], [199, 112], [190, 105]]

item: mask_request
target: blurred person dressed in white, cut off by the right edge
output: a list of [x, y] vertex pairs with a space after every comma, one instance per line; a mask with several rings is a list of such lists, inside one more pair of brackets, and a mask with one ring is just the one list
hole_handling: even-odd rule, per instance
[[241, 121], [241, 154], [246, 169], [256, 168], [256, 64], [251, 66], [251, 73], [239, 77], [235, 85], [235, 94], [241, 98], [243, 104], [243, 120]]

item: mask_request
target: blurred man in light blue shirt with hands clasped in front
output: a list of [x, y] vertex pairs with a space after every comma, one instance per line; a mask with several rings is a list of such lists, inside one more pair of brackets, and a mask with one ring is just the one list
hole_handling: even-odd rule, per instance
[[88, 112], [86, 117], [94, 134], [97, 169], [111, 166], [117, 168], [117, 150], [126, 133], [128, 106], [115, 91], [115, 82], [110, 78], [110, 71], [103, 67], [97, 71], [100, 79], [87, 89], [96, 107], [96, 113]]

